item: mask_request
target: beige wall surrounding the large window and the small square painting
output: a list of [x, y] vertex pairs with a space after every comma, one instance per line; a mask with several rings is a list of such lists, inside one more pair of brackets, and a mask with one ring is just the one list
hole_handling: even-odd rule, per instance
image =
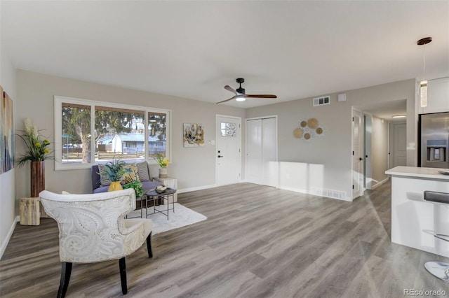
[[[177, 186], [180, 190], [215, 185], [215, 146], [207, 144], [208, 140], [215, 140], [215, 114], [238, 116], [242, 120], [245, 118], [245, 111], [241, 108], [87, 83], [29, 71], [18, 70], [17, 83], [16, 128], [22, 129], [23, 119], [32, 118], [39, 129], [45, 129], [43, 134], [49, 136], [51, 140], [54, 140], [53, 97], [55, 95], [170, 109], [172, 111], [172, 163], [168, 166], [168, 173], [169, 176], [177, 178]], [[184, 122], [199, 122], [205, 125], [206, 145], [204, 147], [183, 147], [182, 123]], [[18, 144], [18, 153], [23, 149], [21, 145]], [[152, 173], [156, 172], [157, 167], [152, 167]], [[17, 171], [16, 180], [18, 181], [16, 197], [28, 196], [29, 166]], [[53, 192], [67, 190], [74, 193], [89, 193], [92, 191], [91, 170], [55, 171], [54, 162], [47, 160], [46, 189]]]

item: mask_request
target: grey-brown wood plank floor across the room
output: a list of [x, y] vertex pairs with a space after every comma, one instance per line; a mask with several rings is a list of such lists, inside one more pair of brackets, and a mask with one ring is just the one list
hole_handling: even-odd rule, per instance
[[[250, 183], [178, 194], [208, 217], [158, 234], [126, 258], [126, 297], [404, 297], [445, 290], [427, 273], [447, 258], [390, 242], [389, 183], [354, 202]], [[0, 297], [55, 297], [58, 227], [15, 228], [0, 261]], [[118, 261], [74, 264], [66, 297], [120, 297]]]

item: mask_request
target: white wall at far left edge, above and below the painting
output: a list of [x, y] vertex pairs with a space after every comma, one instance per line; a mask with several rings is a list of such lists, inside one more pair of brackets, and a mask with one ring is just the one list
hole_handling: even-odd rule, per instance
[[[1, 18], [1, 1], [0, 1]], [[3, 27], [0, 22], [0, 36]], [[15, 69], [0, 38], [0, 85], [13, 99], [13, 117], [17, 117]], [[1, 95], [3, 96], [3, 95]], [[1, 101], [0, 101], [1, 102]], [[3, 128], [2, 128], [3, 129]], [[15, 169], [0, 174], [0, 258], [15, 227]]]

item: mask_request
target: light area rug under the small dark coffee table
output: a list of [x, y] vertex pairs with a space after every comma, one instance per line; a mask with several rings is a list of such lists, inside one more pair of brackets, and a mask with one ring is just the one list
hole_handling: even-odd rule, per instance
[[[173, 208], [172, 204], [170, 204], [170, 208]], [[156, 209], [166, 213], [167, 205], [156, 206]], [[168, 220], [166, 215], [163, 215], [162, 213], [148, 214], [148, 218], [153, 221], [153, 235], [170, 231], [170, 229], [193, 225], [196, 222], [208, 219], [201, 213], [193, 211], [178, 203], [175, 203], [175, 212], [173, 212], [173, 210], [168, 212]], [[148, 207], [148, 213], [153, 213], [153, 207]], [[143, 217], [145, 218], [145, 208], [143, 210]], [[140, 218], [140, 209], [130, 212], [128, 218]]]

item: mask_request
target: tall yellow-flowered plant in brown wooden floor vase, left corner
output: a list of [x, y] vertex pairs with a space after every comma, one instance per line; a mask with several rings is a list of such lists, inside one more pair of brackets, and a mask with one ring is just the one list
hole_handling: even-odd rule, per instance
[[25, 143], [25, 153], [20, 155], [16, 160], [18, 166], [31, 162], [31, 197], [39, 197], [39, 192], [45, 190], [45, 160], [55, 159], [51, 155], [50, 141], [44, 139], [39, 133], [36, 126], [33, 125], [31, 119], [26, 118], [23, 121], [25, 129], [22, 134], [18, 134], [19, 138]]

